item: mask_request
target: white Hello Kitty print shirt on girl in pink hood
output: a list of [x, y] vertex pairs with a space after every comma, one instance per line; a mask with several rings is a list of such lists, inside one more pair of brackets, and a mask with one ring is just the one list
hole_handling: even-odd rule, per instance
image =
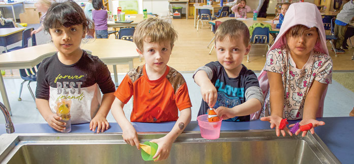
[[[306, 95], [314, 80], [332, 83], [332, 59], [319, 51], [312, 51], [302, 69], [297, 69], [292, 56], [285, 49], [273, 49], [267, 56], [264, 71], [281, 74], [284, 86], [283, 118], [302, 119]], [[261, 117], [270, 116], [269, 91], [261, 110]]]

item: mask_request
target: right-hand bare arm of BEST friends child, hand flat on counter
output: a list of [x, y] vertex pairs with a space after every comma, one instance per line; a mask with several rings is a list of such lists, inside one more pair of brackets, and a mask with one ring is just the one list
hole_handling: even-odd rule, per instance
[[96, 126], [97, 133], [104, 132], [108, 129], [109, 123], [106, 117], [114, 101], [115, 96], [113, 95], [113, 93], [114, 92], [103, 94], [100, 109], [90, 122], [90, 130], [92, 130], [92, 132], [95, 131]]

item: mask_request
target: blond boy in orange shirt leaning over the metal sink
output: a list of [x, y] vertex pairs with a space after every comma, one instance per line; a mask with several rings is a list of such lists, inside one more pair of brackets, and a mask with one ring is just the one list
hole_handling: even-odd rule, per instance
[[176, 121], [170, 133], [151, 141], [158, 145], [153, 156], [155, 161], [168, 158], [172, 143], [191, 119], [187, 84], [179, 72], [167, 65], [176, 39], [176, 31], [166, 21], [148, 18], [140, 22], [133, 40], [145, 64], [130, 70], [114, 93], [117, 99], [113, 102], [112, 114], [123, 130], [124, 141], [138, 149], [137, 132], [123, 111], [132, 95], [132, 122]]

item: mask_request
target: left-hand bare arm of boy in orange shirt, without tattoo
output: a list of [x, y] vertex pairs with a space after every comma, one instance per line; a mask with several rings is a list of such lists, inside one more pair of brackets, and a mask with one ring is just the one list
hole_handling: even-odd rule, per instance
[[123, 140], [132, 146], [136, 146], [138, 150], [140, 150], [138, 134], [133, 127], [133, 125], [125, 118], [124, 111], [123, 111], [124, 103], [121, 102], [119, 99], [114, 99], [112, 104], [112, 115], [114, 119], [119, 124], [120, 128], [123, 131]]

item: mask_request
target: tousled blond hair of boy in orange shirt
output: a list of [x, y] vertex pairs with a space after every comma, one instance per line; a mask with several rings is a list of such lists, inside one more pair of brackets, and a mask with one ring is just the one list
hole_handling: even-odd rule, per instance
[[135, 29], [133, 41], [138, 49], [143, 52], [145, 42], [166, 42], [169, 41], [171, 47], [177, 40], [177, 32], [171, 24], [158, 18], [148, 18], [141, 21]]

